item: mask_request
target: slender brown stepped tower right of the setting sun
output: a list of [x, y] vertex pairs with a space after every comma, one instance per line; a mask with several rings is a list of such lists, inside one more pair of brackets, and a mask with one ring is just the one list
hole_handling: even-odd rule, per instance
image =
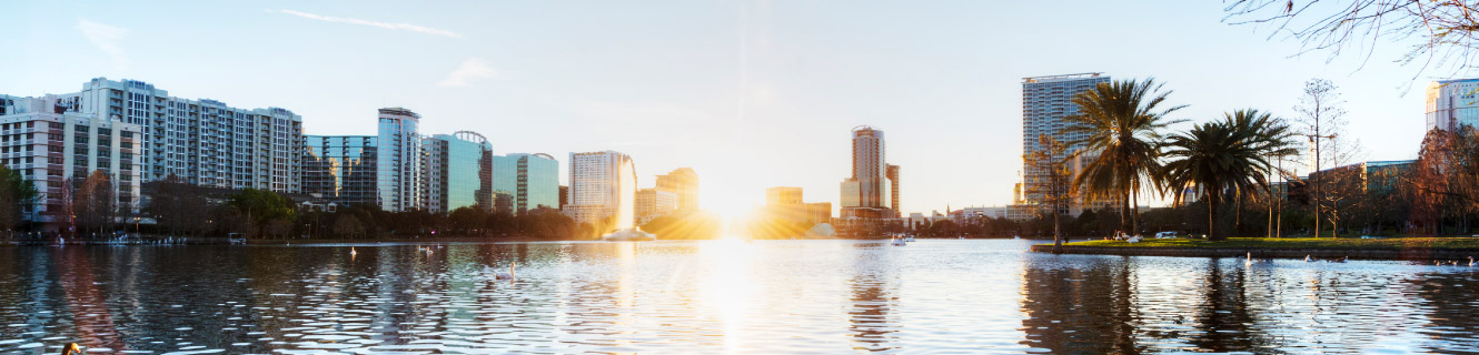
[[852, 130], [852, 177], [842, 183], [843, 218], [893, 217], [893, 183], [887, 178], [883, 131], [861, 125]]

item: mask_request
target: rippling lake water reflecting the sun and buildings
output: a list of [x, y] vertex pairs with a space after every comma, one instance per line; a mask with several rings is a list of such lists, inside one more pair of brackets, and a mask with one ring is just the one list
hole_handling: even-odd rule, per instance
[[0, 247], [0, 354], [1479, 352], [1467, 264], [1029, 243]]

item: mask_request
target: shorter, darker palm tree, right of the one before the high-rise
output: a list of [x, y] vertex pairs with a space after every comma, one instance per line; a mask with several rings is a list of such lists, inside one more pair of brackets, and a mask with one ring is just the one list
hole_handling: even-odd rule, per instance
[[1226, 113], [1222, 121], [1205, 122], [1191, 131], [1171, 136], [1165, 156], [1171, 158], [1160, 171], [1160, 180], [1170, 189], [1174, 203], [1186, 200], [1188, 190], [1207, 202], [1207, 239], [1223, 240], [1217, 234], [1217, 205], [1225, 199], [1257, 196], [1268, 191], [1266, 172], [1275, 169], [1269, 156], [1293, 153], [1288, 125], [1269, 113], [1253, 109]]

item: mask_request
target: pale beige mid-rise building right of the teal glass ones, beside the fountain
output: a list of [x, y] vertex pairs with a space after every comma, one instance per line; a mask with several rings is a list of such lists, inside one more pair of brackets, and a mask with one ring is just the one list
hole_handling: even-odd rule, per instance
[[637, 191], [636, 165], [618, 152], [569, 155], [569, 205], [563, 214], [590, 222], [599, 233], [633, 227]]

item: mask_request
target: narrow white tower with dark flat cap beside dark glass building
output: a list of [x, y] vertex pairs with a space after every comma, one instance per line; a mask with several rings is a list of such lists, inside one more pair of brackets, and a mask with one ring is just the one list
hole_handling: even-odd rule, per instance
[[417, 209], [420, 203], [422, 115], [402, 108], [380, 109], [380, 208], [390, 212]]

